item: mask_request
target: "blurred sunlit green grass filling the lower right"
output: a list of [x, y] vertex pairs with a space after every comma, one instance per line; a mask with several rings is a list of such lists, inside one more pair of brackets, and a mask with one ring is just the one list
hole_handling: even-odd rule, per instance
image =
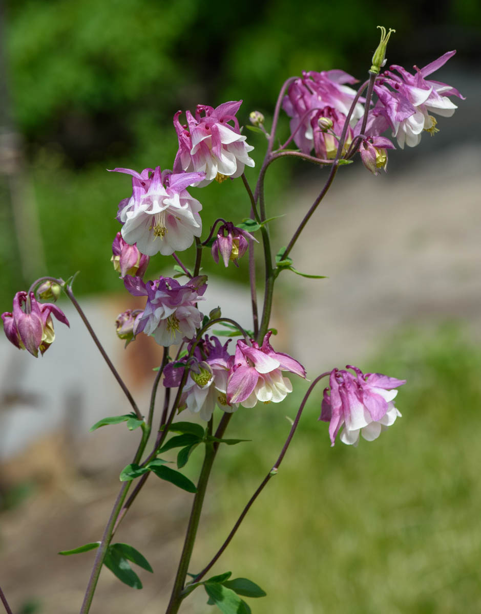
[[[330, 448], [314, 391], [279, 475], [212, 573], [256, 581], [268, 596], [249, 600], [255, 614], [480, 612], [481, 351], [446, 325], [403, 333], [359, 366], [408, 380], [403, 417], [372, 443]], [[255, 441], [218, 459], [195, 569], [276, 460], [296, 407], [240, 411], [228, 436]]]

